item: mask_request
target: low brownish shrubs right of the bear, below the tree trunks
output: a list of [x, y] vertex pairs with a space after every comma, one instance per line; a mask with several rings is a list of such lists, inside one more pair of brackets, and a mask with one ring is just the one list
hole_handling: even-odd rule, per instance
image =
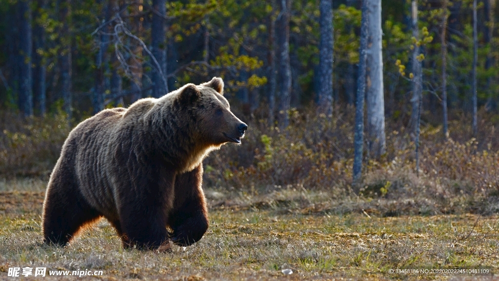
[[[259, 192], [296, 186], [351, 196], [354, 115], [348, 109], [336, 112], [331, 120], [293, 111], [283, 131], [253, 120], [241, 146], [226, 145], [205, 160], [206, 184]], [[422, 128], [419, 177], [411, 135], [400, 123], [387, 121], [387, 152], [379, 159], [364, 153], [363, 181], [354, 188], [365, 202], [377, 198], [378, 205], [366, 208], [384, 205], [386, 213], [405, 213], [407, 207], [399, 204], [404, 202], [412, 204], [411, 212], [423, 214], [498, 211], [495, 123], [483, 120], [479, 138], [471, 138], [466, 117], [461, 117], [452, 122], [449, 139], [440, 126]], [[397, 203], [390, 205], [390, 200]]]

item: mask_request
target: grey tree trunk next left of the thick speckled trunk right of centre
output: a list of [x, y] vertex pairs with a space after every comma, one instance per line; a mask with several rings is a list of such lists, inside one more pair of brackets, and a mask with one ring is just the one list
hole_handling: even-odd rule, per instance
[[291, 65], [289, 59], [289, 17], [291, 0], [280, 0], [281, 11], [277, 16], [277, 45], [279, 46], [279, 127], [285, 128], [289, 124], [289, 103], [291, 98]]

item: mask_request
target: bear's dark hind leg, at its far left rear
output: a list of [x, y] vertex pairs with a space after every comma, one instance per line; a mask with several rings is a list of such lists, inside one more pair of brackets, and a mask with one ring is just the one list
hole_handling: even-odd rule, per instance
[[43, 241], [63, 246], [82, 225], [100, 216], [85, 201], [76, 185], [55, 179], [49, 184], [43, 203]]

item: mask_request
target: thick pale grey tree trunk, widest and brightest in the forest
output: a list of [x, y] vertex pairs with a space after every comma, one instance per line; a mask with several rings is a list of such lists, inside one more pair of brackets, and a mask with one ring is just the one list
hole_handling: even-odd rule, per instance
[[383, 54], [381, 46], [381, 0], [367, 1], [369, 40], [367, 43], [367, 120], [369, 151], [385, 153], [385, 104], [383, 95]]

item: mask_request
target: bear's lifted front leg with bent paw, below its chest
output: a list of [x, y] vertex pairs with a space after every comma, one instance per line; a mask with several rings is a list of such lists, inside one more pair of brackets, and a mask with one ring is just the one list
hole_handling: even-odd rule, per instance
[[202, 188], [203, 165], [175, 179], [175, 202], [168, 216], [172, 241], [181, 246], [199, 241], [208, 229], [208, 209]]

